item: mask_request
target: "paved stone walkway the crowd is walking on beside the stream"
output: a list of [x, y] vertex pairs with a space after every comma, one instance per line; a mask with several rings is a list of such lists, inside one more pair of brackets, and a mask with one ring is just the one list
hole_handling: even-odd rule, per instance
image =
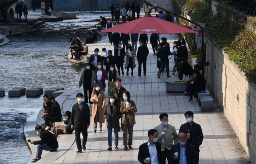
[[[167, 37], [170, 47], [176, 40], [176, 35], [160, 35]], [[113, 46], [110, 43], [98, 43], [97, 47]], [[95, 45], [96, 46], [96, 45]], [[90, 46], [89, 46], [90, 47]], [[180, 125], [186, 122], [184, 113], [186, 111], [194, 112], [194, 121], [202, 126], [204, 133], [204, 141], [200, 146], [200, 164], [248, 164], [249, 160], [242, 149], [236, 135], [234, 134], [230, 124], [225, 118], [225, 115], [220, 111], [220, 108], [215, 107], [214, 112], [201, 112], [198, 101], [194, 99], [193, 102], [186, 102], [189, 99], [182, 93], [166, 93], [165, 81], [177, 80], [177, 75], [171, 75], [166, 78], [166, 72], [157, 78], [158, 68], [156, 67], [156, 55], [152, 53], [152, 47], [148, 44], [150, 54], [147, 58], [147, 73], [146, 76], [137, 76], [138, 62], [136, 61], [136, 68], [134, 75], [121, 75], [122, 86], [131, 93], [131, 99], [136, 102], [138, 112], [136, 115], [136, 124], [134, 125], [134, 139], [133, 150], [122, 150], [123, 148], [123, 132], [119, 132], [119, 150], [113, 149], [107, 151], [108, 148], [108, 131], [106, 123], [103, 124], [102, 132], [93, 132], [92, 118], [91, 126], [88, 128], [88, 142], [86, 144], [86, 151], [81, 154], [76, 154], [77, 148], [73, 134], [66, 134], [60, 136], [59, 143], [62, 149], [58, 150], [62, 153], [61, 156], [54, 158], [51, 162], [44, 162], [44, 158], [38, 163], [52, 163], [52, 164], [136, 164], [138, 148], [140, 144], [147, 142], [147, 132], [154, 126], [160, 124], [159, 114], [166, 112], [169, 114], [169, 124], [176, 127], [178, 132]], [[108, 48], [111, 49], [111, 48]], [[174, 61], [170, 60], [170, 69], [172, 70]], [[126, 73], [126, 70], [125, 70]], [[184, 77], [187, 78], [187, 77]], [[78, 79], [79, 80], [79, 79]], [[78, 83], [76, 81], [75, 83]], [[105, 93], [108, 87], [106, 87]], [[68, 94], [64, 93], [65, 99], [62, 100], [63, 112], [71, 111], [72, 105], [75, 104], [75, 95], [82, 92], [81, 89], [75, 89]], [[61, 96], [60, 96], [61, 97]], [[57, 101], [59, 97], [56, 98]], [[108, 96], [107, 96], [108, 101]], [[65, 140], [62, 137], [66, 138]], [[114, 133], [113, 133], [114, 137]], [[82, 134], [81, 134], [82, 138]], [[72, 144], [73, 143], [73, 144]], [[66, 145], [65, 145], [66, 144]], [[112, 141], [114, 145], [114, 141]], [[65, 148], [66, 146], [66, 148]], [[62, 151], [62, 152], [61, 152]], [[54, 152], [52, 156], [54, 156]], [[57, 152], [55, 153], [58, 154]], [[34, 156], [33, 156], [34, 157]], [[51, 160], [46, 155], [45, 160]], [[167, 163], [167, 161], [166, 161]]]

